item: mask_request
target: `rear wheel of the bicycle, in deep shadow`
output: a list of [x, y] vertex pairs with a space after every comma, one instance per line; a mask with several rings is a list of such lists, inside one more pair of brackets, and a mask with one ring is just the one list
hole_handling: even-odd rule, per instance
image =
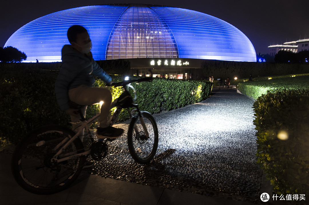
[[[66, 189], [82, 171], [85, 156], [64, 162], [49, 160], [56, 151], [52, 149], [63, 139], [75, 133], [63, 126], [39, 127], [23, 137], [12, 156], [11, 169], [16, 182], [34, 194], [54, 194]], [[76, 139], [62, 153], [82, 152], [83, 143]]]

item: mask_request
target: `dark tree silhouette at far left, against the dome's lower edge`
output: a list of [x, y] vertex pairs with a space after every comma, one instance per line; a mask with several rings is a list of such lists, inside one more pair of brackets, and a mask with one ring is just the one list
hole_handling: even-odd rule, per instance
[[21, 52], [12, 46], [7, 46], [0, 49], [0, 61], [2, 62], [22, 62], [26, 59], [26, 53]]

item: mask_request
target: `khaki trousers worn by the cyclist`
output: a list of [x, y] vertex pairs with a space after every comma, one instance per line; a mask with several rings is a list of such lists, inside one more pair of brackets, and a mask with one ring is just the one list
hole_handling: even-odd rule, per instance
[[[89, 87], [87, 85], [81, 85], [77, 88], [70, 89], [69, 92], [69, 99], [78, 104], [78, 105], [94, 105], [103, 101], [100, 110], [100, 118], [99, 123], [100, 127], [107, 127], [108, 121], [108, 114], [112, 103], [112, 93], [107, 88], [98, 88], [98, 87]], [[84, 117], [86, 116], [86, 109], [85, 106], [82, 109], [82, 113]], [[71, 115], [72, 122], [78, 122], [80, 117], [75, 117]], [[76, 127], [73, 126], [73, 130]]]

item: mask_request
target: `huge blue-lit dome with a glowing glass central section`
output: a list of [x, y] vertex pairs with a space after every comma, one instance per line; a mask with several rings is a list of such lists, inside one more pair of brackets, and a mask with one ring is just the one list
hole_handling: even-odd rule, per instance
[[197, 58], [256, 62], [255, 49], [239, 29], [201, 12], [167, 6], [83, 6], [45, 15], [19, 28], [7, 41], [28, 56], [24, 62], [61, 61], [72, 25], [85, 27], [95, 60]]

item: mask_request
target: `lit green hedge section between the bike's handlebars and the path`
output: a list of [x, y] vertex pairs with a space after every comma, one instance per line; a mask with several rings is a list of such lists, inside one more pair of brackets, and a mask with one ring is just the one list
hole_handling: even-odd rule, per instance
[[210, 95], [212, 83], [155, 78], [152, 82], [141, 82], [134, 87], [140, 108], [160, 113], [205, 100]]

